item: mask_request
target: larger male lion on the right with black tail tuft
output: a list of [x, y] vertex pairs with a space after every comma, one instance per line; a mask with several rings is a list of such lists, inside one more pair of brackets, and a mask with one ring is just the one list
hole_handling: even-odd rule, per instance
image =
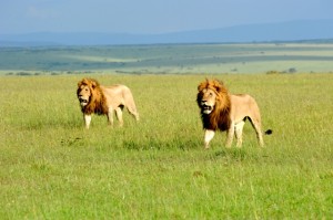
[[[235, 134], [236, 146], [242, 146], [242, 132], [246, 118], [255, 129], [258, 142], [263, 146], [261, 118], [256, 102], [248, 94], [232, 95], [218, 80], [206, 80], [199, 84], [196, 103], [201, 109], [204, 134], [204, 147], [209, 148], [215, 130], [226, 130], [225, 146], [231, 147]], [[265, 134], [271, 134], [266, 130]]]

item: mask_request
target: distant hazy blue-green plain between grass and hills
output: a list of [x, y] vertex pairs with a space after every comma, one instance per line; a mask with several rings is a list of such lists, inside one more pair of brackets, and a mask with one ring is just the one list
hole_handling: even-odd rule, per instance
[[332, 43], [0, 48], [0, 74], [266, 73], [333, 70]]

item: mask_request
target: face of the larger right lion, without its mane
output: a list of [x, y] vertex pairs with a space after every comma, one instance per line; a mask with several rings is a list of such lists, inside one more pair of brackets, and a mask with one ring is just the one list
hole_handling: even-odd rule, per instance
[[203, 88], [198, 94], [198, 105], [202, 114], [211, 114], [216, 104], [216, 91], [212, 88]]

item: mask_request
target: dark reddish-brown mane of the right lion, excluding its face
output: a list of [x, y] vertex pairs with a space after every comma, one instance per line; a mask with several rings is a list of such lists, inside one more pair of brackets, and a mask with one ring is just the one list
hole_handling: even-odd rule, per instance
[[[203, 109], [201, 108], [201, 101], [203, 96], [203, 90], [210, 88], [215, 92], [216, 99], [215, 106], [211, 114], [203, 114]], [[196, 103], [201, 108], [201, 118], [204, 129], [212, 129], [212, 130], [226, 130], [230, 127], [231, 119], [230, 119], [230, 109], [231, 109], [231, 101], [230, 94], [224, 86], [223, 82], [218, 80], [205, 80], [204, 82], [200, 83], [198, 86], [198, 96]]]

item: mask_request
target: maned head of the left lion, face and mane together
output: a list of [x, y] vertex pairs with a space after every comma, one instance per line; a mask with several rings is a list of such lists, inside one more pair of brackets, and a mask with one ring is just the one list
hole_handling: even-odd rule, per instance
[[108, 107], [100, 84], [93, 78], [83, 78], [78, 83], [77, 95], [83, 113], [105, 114]]

